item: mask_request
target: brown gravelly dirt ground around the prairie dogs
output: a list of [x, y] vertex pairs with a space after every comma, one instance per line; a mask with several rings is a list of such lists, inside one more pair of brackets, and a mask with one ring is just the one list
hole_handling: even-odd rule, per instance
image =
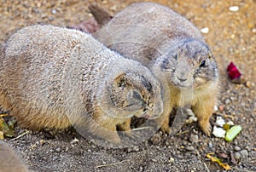
[[[36, 23], [73, 26], [91, 17], [90, 0], [1, 0], [1, 43], [23, 26]], [[112, 14], [137, 1], [96, 1]], [[160, 132], [160, 141], [144, 141], [138, 146], [111, 149], [97, 146], [70, 129], [55, 133], [29, 131], [16, 140], [4, 141], [14, 147], [29, 169], [34, 171], [223, 171], [206, 154], [214, 152], [231, 171], [256, 171], [256, 1], [173, 0], [154, 1], [165, 4], [187, 19], [203, 33], [221, 73], [221, 94], [218, 106], [224, 107], [212, 115], [232, 120], [242, 127], [235, 140], [226, 142], [202, 134], [197, 123], [185, 124], [179, 135]], [[230, 11], [238, 6], [238, 11]], [[247, 85], [231, 83], [225, 72], [233, 61], [247, 77]], [[0, 83], [1, 84], [1, 83]], [[16, 126], [17, 135], [26, 132]], [[184, 132], [183, 132], [184, 131]], [[10, 164], [11, 165], [11, 164]], [[1, 167], [0, 167], [1, 168]]]

